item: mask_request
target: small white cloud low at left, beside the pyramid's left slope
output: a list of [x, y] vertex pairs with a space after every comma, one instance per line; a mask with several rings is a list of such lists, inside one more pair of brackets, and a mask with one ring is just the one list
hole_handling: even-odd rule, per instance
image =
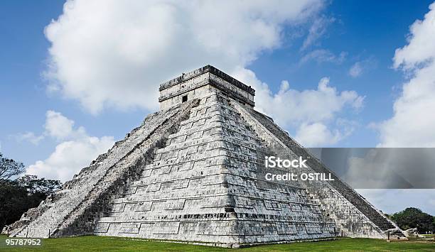
[[114, 144], [112, 136], [88, 136], [85, 128], [74, 128], [74, 121], [59, 112], [47, 111], [45, 116], [44, 136], [59, 143], [48, 158], [29, 165], [27, 174], [65, 182]]

